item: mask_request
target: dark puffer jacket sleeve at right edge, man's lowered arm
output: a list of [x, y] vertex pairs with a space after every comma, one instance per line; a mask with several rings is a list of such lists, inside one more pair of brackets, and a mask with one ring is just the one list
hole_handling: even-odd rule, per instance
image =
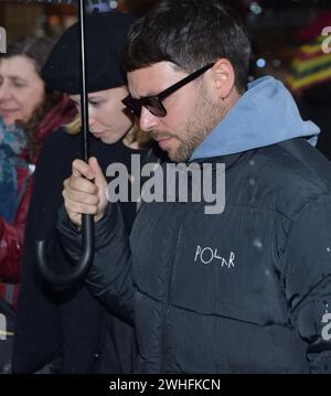
[[290, 320], [307, 343], [310, 371], [331, 373], [331, 194], [305, 205], [293, 218], [285, 258]]

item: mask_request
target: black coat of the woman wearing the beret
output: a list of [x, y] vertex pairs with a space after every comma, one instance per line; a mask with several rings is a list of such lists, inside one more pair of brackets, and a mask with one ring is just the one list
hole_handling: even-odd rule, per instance
[[[22, 260], [12, 360], [14, 373], [35, 372], [56, 356], [61, 356], [63, 373], [131, 371], [131, 327], [107, 312], [84, 285], [54, 290], [35, 270], [38, 238], [47, 240], [54, 267], [65, 268], [70, 263], [56, 239], [55, 224], [63, 202], [63, 181], [71, 175], [73, 159], [81, 157], [79, 149], [79, 137], [60, 130], [45, 143], [36, 164]], [[90, 153], [97, 157], [105, 171], [111, 162], [128, 163], [130, 154], [137, 150], [121, 142], [108, 146], [93, 138]], [[125, 203], [121, 208], [130, 229], [136, 204]]]

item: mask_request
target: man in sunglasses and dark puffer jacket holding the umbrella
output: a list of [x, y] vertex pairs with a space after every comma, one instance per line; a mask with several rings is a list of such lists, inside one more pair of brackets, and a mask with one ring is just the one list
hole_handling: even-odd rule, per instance
[[63, 243], [77, 259], [76, 225], [95, 215], [86, 282], [135, 323], [137, 373], [331, 372], [331, 165], [280, 82], [246, 85], [248, 58], [221, 0], [160, 1], [125, 56], [141, 128], [171, 160], [209, 165], [213, 188], [224, 164], [222, 213], [188, 176], [192, 199], [143, 202], [129, 239], [96, 159], [65, 181]]

